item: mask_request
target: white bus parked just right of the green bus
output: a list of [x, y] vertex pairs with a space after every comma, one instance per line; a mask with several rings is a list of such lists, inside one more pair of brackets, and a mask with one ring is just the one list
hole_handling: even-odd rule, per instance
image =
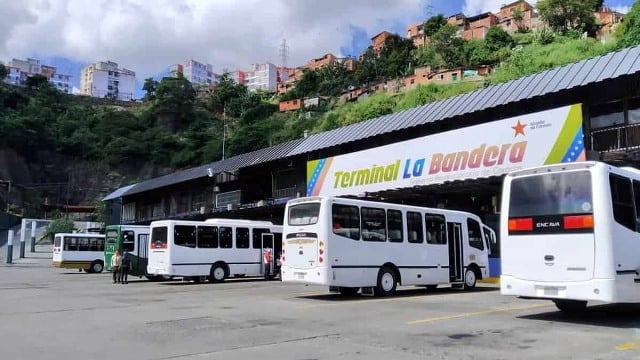
[[263, 249], [282, 251], [282, 226], [268, 221], [208, 219], [151, 223], [147, 273], [196, 282], [230, 276], [272, 277], [264, 273]]

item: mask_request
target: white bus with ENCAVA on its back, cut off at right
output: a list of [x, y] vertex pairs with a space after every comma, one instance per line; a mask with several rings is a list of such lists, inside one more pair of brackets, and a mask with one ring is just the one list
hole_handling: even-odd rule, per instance
[[503, 295], [640, 300], [640, 172], [600, 162], [518, 170], [505, 177], [500, 241]]

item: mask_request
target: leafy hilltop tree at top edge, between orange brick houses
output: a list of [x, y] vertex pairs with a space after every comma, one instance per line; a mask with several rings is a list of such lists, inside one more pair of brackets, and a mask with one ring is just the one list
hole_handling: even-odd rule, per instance
[[570, 30], [594, 31], [593, 10], [597, 3], [597, 0], [540, 0], [537, 7], [540, 16], [549, 26], [566, 34]]

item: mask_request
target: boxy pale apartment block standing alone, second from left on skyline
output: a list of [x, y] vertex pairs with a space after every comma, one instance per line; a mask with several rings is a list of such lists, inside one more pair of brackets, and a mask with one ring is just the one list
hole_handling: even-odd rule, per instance
[[121, 101], [135, 100], [136, 73], [118, 68], [113, 61], [100, 61], [82, 69], [80, 94]]

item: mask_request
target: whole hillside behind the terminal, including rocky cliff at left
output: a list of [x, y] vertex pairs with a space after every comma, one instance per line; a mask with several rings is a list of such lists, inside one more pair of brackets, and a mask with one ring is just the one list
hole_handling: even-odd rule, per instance
[[[640, 26], [631, 26], [638, 8], [636, 3], [625, 19], [620, 43], [640, 43], [633, 32]], [[459, 57], [448, 60], [437, 51], [429, 53], [433, 49], [412, 48], [396, 36], [378, 57], [366, 53], [355, 71], [336, 67], [307, 71], [280, 98], [248, 92], [228, 76], [210, 94], [197, 94], [184, 78], [147, 79], [147, 95], [133, 107], [67, 96], [46, 80], [31, 81], [28, 87], [0, 83], [0, 180], [4, 180], [0, 184], [5, 184], [0, 185], [0, 205], [41, 216], [43, 203], [94, 203], [120, 186], [220, 160], [223, 152], [230, 157], [268, 147], [301, 137], [305, 131], [330, 130], [617, 48], [615, 41], [551, 31], [513, 35], [492, 31], [484, 41], [459, 44], [451, 35], [449, 41], [460, 46]], [[370, 68], [370, 60], [380, 67]], [[480, 81], [419, 85], [393, 95], [378, 92], [356, 102], [338, 101], [347, 87], [389, 81], [415, 66], [449, 66], [447, 61], [462, 67], [489, 63], [493, 71]], [[315, 111], [278, 112], [280, 100], [315, 95], [327, 96], [328, 103]]]

